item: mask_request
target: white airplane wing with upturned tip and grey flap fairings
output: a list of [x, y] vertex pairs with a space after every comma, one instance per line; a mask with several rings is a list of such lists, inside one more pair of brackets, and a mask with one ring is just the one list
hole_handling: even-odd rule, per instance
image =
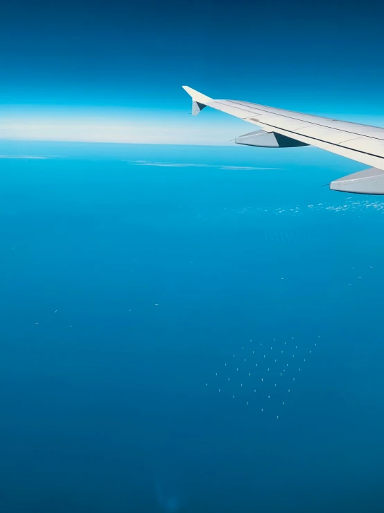
[[246, 101], [214, 100], [187, 85], [182, 87], [192, 97], [193, 115], [198, 115], [208, 106], [262, 128], [236, 137], [237, 144], [270, 148], [311, 145], [337, 153], [370, 167], [334, 180], [329, 184], [331, 190], [384, 194], [384, 128], [300, 114]]

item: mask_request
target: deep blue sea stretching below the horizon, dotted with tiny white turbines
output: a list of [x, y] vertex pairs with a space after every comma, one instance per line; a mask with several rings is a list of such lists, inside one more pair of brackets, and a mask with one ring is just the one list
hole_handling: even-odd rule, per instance
[[363, 166], [0, 153], [2, 512], [383, 511], [384, 203], [322, 187]]

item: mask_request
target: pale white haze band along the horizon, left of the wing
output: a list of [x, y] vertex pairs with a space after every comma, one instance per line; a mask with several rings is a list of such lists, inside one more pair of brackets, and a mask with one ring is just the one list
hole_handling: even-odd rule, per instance
[[[0, 112], [0, 139], [62, 142], [116, 142], [143, 144], [232, 145], [237, 135], [249, 130], [239, 119], [206, 116], [197, 119], [185, 113], [177, 115], [136, 115], [123, 117], [55, 115], [12, 117]], [[225, 115], [223, 115], [225, 117]]]

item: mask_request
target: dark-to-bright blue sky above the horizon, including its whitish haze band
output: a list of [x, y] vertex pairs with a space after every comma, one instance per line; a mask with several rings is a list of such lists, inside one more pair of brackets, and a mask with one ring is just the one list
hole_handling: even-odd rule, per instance
[[384, 124], [383, 6], [372, 0], [20, 2], [2, 6], [0, 137], [228, 144], [186, 84]]

